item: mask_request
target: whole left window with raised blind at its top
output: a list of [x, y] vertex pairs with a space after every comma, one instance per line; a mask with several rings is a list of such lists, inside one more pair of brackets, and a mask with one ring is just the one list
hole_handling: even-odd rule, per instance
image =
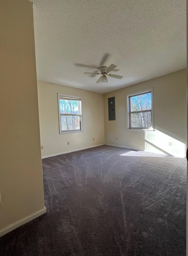
[[82, 97], [58, 93], [59, 133], [83, 132]]

